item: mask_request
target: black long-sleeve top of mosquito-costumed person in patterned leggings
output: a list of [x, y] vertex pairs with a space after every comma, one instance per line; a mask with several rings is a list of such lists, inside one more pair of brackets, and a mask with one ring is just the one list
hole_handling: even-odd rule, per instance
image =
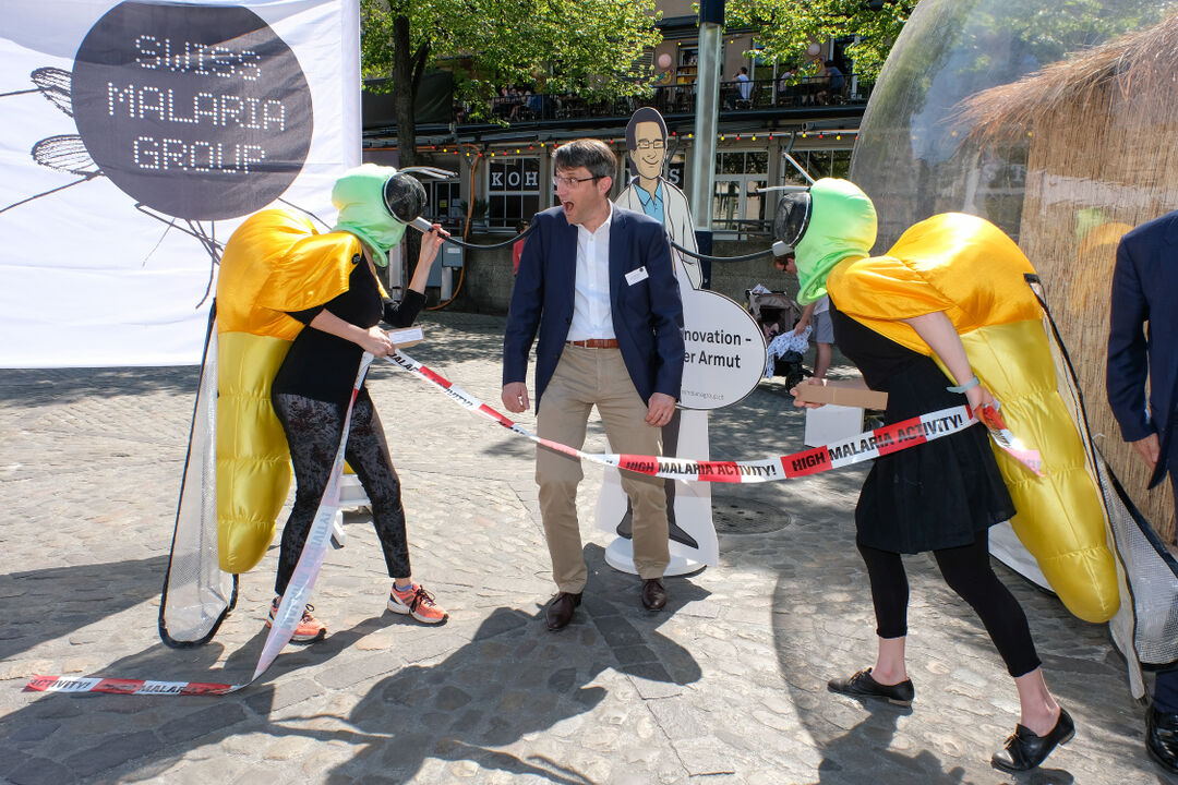
[[[320, 311], [326, 310], [364, 330], [380, 321], [392, 327], [412, 325], [425, 305], [425, 295], [406, 290], [405, 299], [401, 302], [382, 298], [364, 258], [357, 254], [352, 262], [356, 267], [348, 278], [346, 292], [323, 305], [290, 315], [310, 325]], [[315, 327], [305, 327], [296, 335], [286, 359], [278, 368], [273, 391], [346, 406], [363, 353], [364, 350], [350, 340]]]

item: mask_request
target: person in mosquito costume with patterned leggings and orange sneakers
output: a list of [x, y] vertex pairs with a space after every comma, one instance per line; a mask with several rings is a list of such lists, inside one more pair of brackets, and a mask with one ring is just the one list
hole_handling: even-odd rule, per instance
[[[369, 164], [340, 178], [331, 199], [339, 219], [324, 234], [290, 211], [252, 215], [230, 238], [217, 282], [223, 570], [245, 572], [262, 558], [289, 487], [287, 461], [294, 468], [294, 506], [283, 530], [267, 625], [327, 485], [360, 355], [384, 357], [393, 348], [379, 322], [413, 322], [445, 235], [436, 224], [424, 235], [405, 297], [393, 302], [376, 268], [388, 265], [389, 251], [405, 232], [406, 222], [396, 218], [397, 200], [424, 204], [424, 188], [397, 169]], [[371, 501], [393, 579], [389, 610], [424, 624], [445, 621], [445, 611], [412, 581], [401, 484], [364, 387], [352, 410], [346, 459]], [[291, 640], [310, 643], [326, 634], [311, 610], [303, 611]]]

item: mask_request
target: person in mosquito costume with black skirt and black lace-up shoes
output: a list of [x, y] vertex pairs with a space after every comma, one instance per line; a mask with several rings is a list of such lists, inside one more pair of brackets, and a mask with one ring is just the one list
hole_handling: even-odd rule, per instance
[[796, 253], [799, 300], [829, 293], [835, 341], [869, 387], [888, 393], [886, 423], [965, 405], [995, 419], [997, 397], [1010, 428], [1040, 451], [1045, 475], [993, 450], [982, 427], [880, 457], [855, 508], [878, 623], [875, 665], [828, 686], [861, 700], [912, 703], [900, 554], [932, 551], [1018, 690], [1020, 721], [992, 764], [1026, 771], [1071, 739], [1074, 724], [1047, 690], [1023, 608], [991, 568], [990, 527], [1013, 518], [1060, 599], [1101, 621], [1118, 607], [1103, 507], [1057, 392], [1043, 312], [1025, 278], [1034, 271], [1018, 246], [960, 213], [916, 224], [880, 257], [869, 253], [875, 231], [874, 205], [846, 180], [786, 197], [777, 233]]

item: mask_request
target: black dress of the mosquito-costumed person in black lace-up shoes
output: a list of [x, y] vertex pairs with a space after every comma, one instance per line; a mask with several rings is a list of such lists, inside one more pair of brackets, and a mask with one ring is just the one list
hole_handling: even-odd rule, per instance
[[[949, 381], [932, 358], [839, 313], [833, 302], [830, 318], [839, 350], [868, 387], [888, 394], [886, 424], [968, 405], [946, 390]], [[978, 532], [1013, 515], [990, 435], [974, 425], [878, 458], [859, 494], [855, 527], [862, 545], [920, 553], [971, 545]]]

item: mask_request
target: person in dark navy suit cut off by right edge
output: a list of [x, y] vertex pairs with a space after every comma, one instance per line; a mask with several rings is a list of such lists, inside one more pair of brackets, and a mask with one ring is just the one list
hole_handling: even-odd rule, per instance
[[[1121, 435], [1153, 470], [1150, 487], [1169, 471], [1178, 517], [1178, 211], [1138, 226], [1117, 247], [1105, 385]], [[1178, 668], [1157, 674], [1145, 749], [1178, 773]]]

